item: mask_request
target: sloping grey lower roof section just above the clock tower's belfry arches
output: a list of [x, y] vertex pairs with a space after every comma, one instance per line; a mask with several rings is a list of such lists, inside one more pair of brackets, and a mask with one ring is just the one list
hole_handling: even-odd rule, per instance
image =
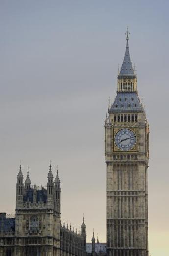
[[140, 112], [142, 105], [136, 92], [118, 92], [109, 113], [115, 112]]

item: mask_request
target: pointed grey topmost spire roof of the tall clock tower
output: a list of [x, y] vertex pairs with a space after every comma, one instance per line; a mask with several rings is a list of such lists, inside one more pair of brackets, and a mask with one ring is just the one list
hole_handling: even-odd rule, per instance
[[124, 76], [135, 76], [134, 69], [132, 66], [132, 62], [130, 59], [130, 53], [129, 53], [129, 34], [130, 32], [128, 31], [127, 27], [127, 32], [126, 32], [126, 50], [125, 50], [125, 55], [124, 55], [124, 60], [121, 66], [120, 73], [118, 74], [118, 78], [124, 77]]

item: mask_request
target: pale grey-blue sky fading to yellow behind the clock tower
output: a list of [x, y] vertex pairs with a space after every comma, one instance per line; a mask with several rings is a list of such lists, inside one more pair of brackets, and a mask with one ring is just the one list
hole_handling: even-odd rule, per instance
[[15, 212], [21, 161], [32, 184], [61, 179], [62, 221], [83, 214], [106, 241], [104, 120], [130, 31], [150, 123], [149, 252], [169, 255], [169, 1], [0, 0], [0, 212]]

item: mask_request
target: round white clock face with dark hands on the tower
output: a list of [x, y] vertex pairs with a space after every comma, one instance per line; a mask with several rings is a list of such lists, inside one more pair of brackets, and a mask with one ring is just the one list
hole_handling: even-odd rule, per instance
[[136, 134], [130, 129], [121, 129], [115, 135], [115, 144], [121, 150], [130, 150], [136, 144]]

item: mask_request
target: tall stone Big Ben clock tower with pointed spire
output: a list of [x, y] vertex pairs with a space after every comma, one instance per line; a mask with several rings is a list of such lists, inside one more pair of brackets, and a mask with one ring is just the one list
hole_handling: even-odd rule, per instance
[[105, 120], [108, 256], [148, 256], [149, 125], [128, 41], [127, 28], [117, 95]]

